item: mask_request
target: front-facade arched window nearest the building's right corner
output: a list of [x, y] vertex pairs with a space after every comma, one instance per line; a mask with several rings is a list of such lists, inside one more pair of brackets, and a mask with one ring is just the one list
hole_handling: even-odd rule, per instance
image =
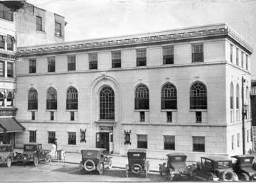
[[191, 87], [190, 109], [207, 109], [206, 85], [196, 82]]

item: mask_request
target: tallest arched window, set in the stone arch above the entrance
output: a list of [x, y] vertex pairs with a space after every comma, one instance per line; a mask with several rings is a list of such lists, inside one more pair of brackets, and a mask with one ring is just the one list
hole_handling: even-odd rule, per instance
[[100, 119], [114, 120], [114, 90], [103, 87], [100, 91]]

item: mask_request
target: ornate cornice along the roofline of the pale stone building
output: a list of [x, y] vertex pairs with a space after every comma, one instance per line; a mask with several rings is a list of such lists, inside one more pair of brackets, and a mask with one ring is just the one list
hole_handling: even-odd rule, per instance
[[55, 43], [50, 45], [35, 45], [31, 47], [18, 48], [16, 55], [26, 57], [30, 55], [41, 55], [44, 53], [55, 54], [65, 51], [77, 50], [97, 50], [99, 48], [107, 49], [124, 45], [139, 45], [145, 43], [158, 43], [170, 40], [183, 40], [193, 38], [208, 38], [218, 35], [225, 35], [240, 44], [245, 50], [252, 53], [252, 46], [242, 38], [235, 30], [226, 23], [220, 23], [210, 26], [198, 26], [193, 28], [181, 28], [176, 30], [166, 30], [156, 33], [145, 33], [139, 35], [127, 35], [114, 38], [102, 38], [92, 40], [78, 40], [72, 42]]

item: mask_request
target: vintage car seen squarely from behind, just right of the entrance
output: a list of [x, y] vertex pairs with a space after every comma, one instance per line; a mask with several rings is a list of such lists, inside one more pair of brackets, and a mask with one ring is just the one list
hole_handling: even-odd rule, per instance
[[146, 177], [149, 172], [149, 161], [146, 160], [145, 149], [129, 149], [127, 152], [128, 165], [125, 166], [128, 173], [134, 174], [145, 173]]

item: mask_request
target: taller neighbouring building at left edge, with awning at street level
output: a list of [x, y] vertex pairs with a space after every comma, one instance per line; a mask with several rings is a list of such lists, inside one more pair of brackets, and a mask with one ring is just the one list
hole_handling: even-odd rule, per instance
[[0, 1], [0, 143], [14, 143], [25, 130], [15, 118], [16, 46], [63, 42], [64, 27], [63, 16], [25, 1]]

